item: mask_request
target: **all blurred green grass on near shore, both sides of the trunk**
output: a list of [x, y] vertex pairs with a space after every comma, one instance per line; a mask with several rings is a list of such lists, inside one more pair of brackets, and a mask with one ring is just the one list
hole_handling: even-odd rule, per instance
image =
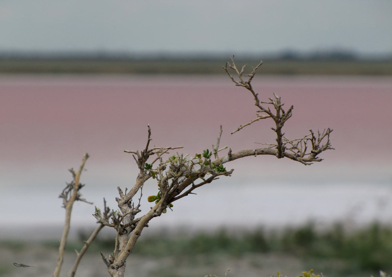
[[[79, 241], [67, 243], [66, 250], [74, 252], [83, 246], [89, 234], [79, 232]], [[57, 249], [58, 242], [45, 242]], [[3, 248], [23, 251], [22, 243], [3, 241]], [[105, 255], [114, 250], [114, 238], [98, 237], [87, 253]], [[266, 231], [215, 232], [175, 234], [167, 230], [142, 236], [132, 255], [156, 259], [171, 258], [175, 264], [199, 266], [220, 263], [222, 259], [246, 259], [254, 254], [299, 258], [305, 268], [328, 273], [329, 276], [376, 276], [379, 270], [392, 271], [392, 227], [374, 223], [347, 231], [343, 224], [319, 230], [313, 223], [298, 228]]]

